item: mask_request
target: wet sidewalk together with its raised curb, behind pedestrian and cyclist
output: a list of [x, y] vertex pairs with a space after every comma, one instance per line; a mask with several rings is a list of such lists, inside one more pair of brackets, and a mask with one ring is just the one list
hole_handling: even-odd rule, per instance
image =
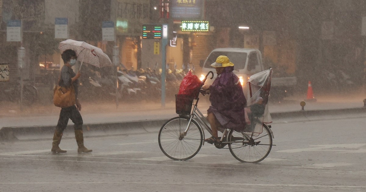
[[[269, 112], [274, 121], [278, 118], [303, 118], [308, 116], [320, 116], [348, 113], [366, 113], [364, 108], [364, 95], [339, 94], [339, 95], [319, 95], [317, 102], [306, 102], [305, 110], [301, 110], [300, 102], [303, 101], [303, 95], [288, 97], [283, 101], [269, 101]], [[205, 98], [201, 98], [198, 108], [205, 114], [210, 103]], [[59, 117], [60, 108], [49, 103], [41, 105], [35, 103], [31, 107], [24, 106], [20, 111], [19, 105], [10, 102], [1, 102], [0, 111], [0, 140], [1, 134], [11, 135], [19, 139], [20, 135], [36, 134], [37, 132], [51, 134]], [[165, 107], [161, 102], [119, 102], [116, 107], [115, 102], [82, 102], [81, 111], [86, 132], [90, 131], [89, 136], [103, 135], [106, 131], [124, 128], [123, 133], [146, 132], [149, 127], [160, 127], [166, 120], [176, 117], [175, 102], [167, 101]], [[72, 122], [69, 121], [69, 126]], [[71, 128], [67, 128], [72, 130]], [[126, 131], [125, 129], [129, 129]], [[139, 130], [138, 130], [139, 129]], [[92, 133], [92, 132], [99, 133]], [[155, 130], [156, 131], [156, 130]], [[104, 132], [104, 133], [101, 133]], [[113, 134], [114, 134], [113, 133]], [[18, 134], [18, 135], [16, 135]]]

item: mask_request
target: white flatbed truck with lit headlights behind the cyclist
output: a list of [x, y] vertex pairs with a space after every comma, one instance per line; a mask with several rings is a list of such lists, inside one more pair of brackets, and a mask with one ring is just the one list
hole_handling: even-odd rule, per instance
[[[210, 65], [215, 62], [216, 58], [220, 55], [227, 56], [230, 61], [234, 63], [234, 74], [240, 78], [244, 94], [249, 98], [249, 95], [247, 94], [247, 80], [251, 75], [268, 69], [263, 65], [262, 53], [258, 49], [247, 48], [214, 49], [206, 60], [200, 63], [202, 74], [197, 74], [200, 79], [203, 79], [209, 71], [213, 71], [215, 74], [214, 78], [216, 78], [215, 69]], [[214, 79], [207, 79], [206, 84], [212, 84], [213, 80]], [[270, 94], [276, 99], [282, 99], [288, 94], [291, 94], [296, 83], [296, 77], [272, 77]]]

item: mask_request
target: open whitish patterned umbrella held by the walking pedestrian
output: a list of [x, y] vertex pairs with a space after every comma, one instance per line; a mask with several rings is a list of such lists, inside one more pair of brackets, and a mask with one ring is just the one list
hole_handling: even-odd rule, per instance
[[105, 54], [102, 49], [90, 45], [84, 41], [67, 39], [60, 42], [59, 49], [61, 52], [65, 51], [66, 49], [74, 50], [76, 52], [76, 56], [78, 56], [78, 60], [82, 62], [81, 64], [85, 62], [96, 67], [112, 65], [111, 59], [109, 59], [107, 54]]

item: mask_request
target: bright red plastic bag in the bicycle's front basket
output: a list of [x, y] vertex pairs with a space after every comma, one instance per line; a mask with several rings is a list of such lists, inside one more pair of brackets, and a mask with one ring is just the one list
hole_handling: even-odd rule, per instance
[[186, 76], [184, 76], [182, 83], [180, 83], [178, 95], [196, 97], [201, 85], [202, 82], [197, 75], [193, 75], [191, 71], [188, 71]]

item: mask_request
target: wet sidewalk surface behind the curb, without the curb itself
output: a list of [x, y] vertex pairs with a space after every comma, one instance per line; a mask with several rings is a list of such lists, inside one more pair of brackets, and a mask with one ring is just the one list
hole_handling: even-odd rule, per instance
[[[300, 102], [304, 101], [302, 95], [288, 97], [283, 101], [269, 101], [269, 112], [295, 112], [300, 111]], [[363, 99], [366, 95], [319, 95], [317, 102], [306, 102], [304, 109], [309, 110], [329, 110], [360, 108], [364, 106]], [[114, 101], [110, 102], [83, 102], [81, 114], [84, 123], [106, 123], [121, 121], [153, 120], [161, 118], [175, 117], [175, 102], [167, 101], [165, 107], [161, 102], [119, 102], [118, 107]], [[201, 98], [198, 107], [202, 113], [206, 112], [210, 103], [208, 99]], [[35, 103], [33, 106], [23, 106], [20, 110], [18, 103], [0, 102], [0, 128], [16, 126], [34, 125], [56, 125], [60, 108], [53, 106], [52, 103], [41, 105]], [[71, 121], [70, 121], [71, 123]]]

